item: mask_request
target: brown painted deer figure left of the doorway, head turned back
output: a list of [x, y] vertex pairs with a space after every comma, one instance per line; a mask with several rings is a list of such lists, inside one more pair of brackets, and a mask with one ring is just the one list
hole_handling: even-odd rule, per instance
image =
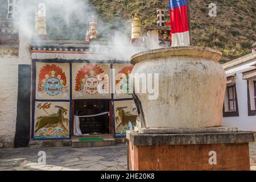
[[59, 108], [57, 113], [52, 113], [48, 116], [40, 116], [37, 118], [37, 123], [35, 126], [35, 133], [38, 132], [38, 130], [43, 129], [44, 127], [59, 127], [63, 128], [64, 130], [68, 130], [68, 119], [64, 118], [64, 114], [67, 114], [67, 109], [64, 109], [64, 107], [61, 106], [55, 106], [56, 108]]

